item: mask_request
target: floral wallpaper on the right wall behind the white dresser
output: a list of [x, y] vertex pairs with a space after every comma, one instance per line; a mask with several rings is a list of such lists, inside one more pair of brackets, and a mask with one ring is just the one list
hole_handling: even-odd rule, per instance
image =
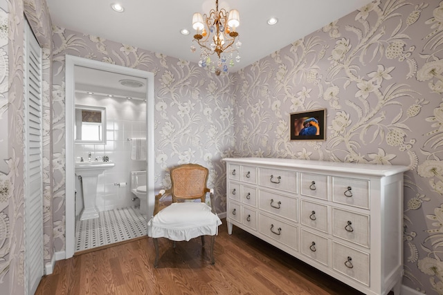
[[[401, 164], [404, 285], [443, 294], [443, 1], [372, 1], [240, 70], [241, 156]], [[324, 142], [289, 114], [327, 110]]]

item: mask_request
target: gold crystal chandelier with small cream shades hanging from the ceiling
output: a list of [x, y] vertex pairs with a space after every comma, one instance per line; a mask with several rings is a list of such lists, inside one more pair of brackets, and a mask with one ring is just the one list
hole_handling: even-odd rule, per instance
[[[238, 32], [235, 31], [239, 24], [238, 10], [219, 10], [219, 0], [215, 0], [215, 10], [211, 9], [209, 15], [202, 16], [201, 13], [195, 12], [192, 16], [192, 28], [197, 32], [192, 42], [197, 41], [201, 47], [199, 66], [210, 68], [210, 71], [218, 76], [221, 71], [228, 72], [228, 65], [234, 66], [234, 53], [237, 53], [235, 60], [240, 61], [238, 49], [242, 42], [237, 39]], [[194, 53], [195, 50], [192, 44], [191, 51]], [[215, 53], [217, 57], [211, 58]]]

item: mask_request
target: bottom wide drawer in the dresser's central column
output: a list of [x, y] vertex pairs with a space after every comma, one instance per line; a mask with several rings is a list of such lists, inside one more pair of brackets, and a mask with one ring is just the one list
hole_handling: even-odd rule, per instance
[[265, 236], [297, 250], [297, 227], [259, 213], [258, 228]]

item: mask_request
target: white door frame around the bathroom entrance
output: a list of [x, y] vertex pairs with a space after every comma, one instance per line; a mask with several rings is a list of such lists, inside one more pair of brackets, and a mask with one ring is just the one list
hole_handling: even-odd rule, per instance
[[96, 70], [131, 75], [146, 79], [146, 144], [147, 144], [147, 216], [154, 212], [154, 73], [135, 68], [127, 68], [102, 61], [85, 59], [66, 55], [66, 97], [65, 97], [65, 127], [66, 127], [66, 186], [65, 186], [65, 258], [71, 258], [75, 249], [75, 155], [74, 155], [74, 112], [75, 112], [75, 66], [84, 66]]

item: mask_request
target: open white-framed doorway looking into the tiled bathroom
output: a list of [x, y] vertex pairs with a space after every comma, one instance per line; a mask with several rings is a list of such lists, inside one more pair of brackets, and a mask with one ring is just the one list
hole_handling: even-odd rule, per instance
[[[89, 116], [84, 120], [80, 115], [83, 124], [78, 122], [80, 112]], [[81, 134], [88, 129], [91, 135]], [[131, 158], [132, 139], [145, 141], [139, 159]], [[66, 55], [66, 258], [145, 235], [154, 204], [153, 140], [152, 73]], [[95, 196], [82, 196], [87, 181], [75, 173], [75, 163], [82, 160], [115, 165], [98, 174]], [[146, 171], [144, 200], [131, 192], [131, 171]], [[80, 220], [91, 197], [96, 198], [98, 218]], [[147, 202], [143, 214], [140, 202]]]

